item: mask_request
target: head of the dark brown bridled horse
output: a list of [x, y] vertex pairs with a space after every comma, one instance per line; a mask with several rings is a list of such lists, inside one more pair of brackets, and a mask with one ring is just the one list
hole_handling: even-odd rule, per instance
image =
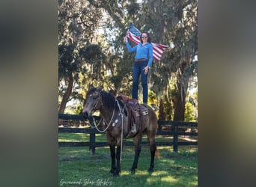
[[86, 93], [85, 106], [82, 110], [82, 116], [86, 119], [91, 117], [94, 111], [100, 109], [102, 105], [101, 90], [103, 88], [94, 88], [93, 85], [90, 86], [88, 93]]

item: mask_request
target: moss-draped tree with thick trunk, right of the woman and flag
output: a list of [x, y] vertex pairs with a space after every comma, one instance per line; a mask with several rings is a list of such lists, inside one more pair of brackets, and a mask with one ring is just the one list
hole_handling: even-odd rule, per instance
[[[198, 51], [197, 1], [147, 1], [143, 12], [140, 21], [146, 23], [144, 28], [150, 31], [153, 38], [173, 44], [153, 67], [152, 79], [155, 82], [152, 89], [157, 95], [170, 95], [174, 104], [173, 120], [184, 120], [189, 79], [197, 70], [197, 61], [193, 61]], [[176, 82], [169, 94], [171, 76]]]

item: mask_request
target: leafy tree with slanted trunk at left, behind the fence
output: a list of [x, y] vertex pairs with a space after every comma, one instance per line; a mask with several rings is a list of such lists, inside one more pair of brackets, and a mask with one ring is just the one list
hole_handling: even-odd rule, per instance
[[64, 113], [70, 96], [79, 96], [74, 88], [79, 86], [79, 73], [87, 71], [79, 51], [90, 45], [102, 13], [87, 1], [60, 0], [58, 3], [59, 113]]

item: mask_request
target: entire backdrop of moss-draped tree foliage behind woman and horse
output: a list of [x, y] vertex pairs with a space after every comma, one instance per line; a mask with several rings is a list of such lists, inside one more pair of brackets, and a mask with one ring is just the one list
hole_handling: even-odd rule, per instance
[[115, 95], [131, 95], [134, 54], [127, 52], [123, 37], [133, 22], [149, 31], [154, 43], [170, 46], [150, 68], [149, 101], [161, 108], [165, 120], [185, 120], [189, 82], [197, 76], [197, 2], [59, 1], [60, 102], [78, 99], [82, 105], [91, 83]]

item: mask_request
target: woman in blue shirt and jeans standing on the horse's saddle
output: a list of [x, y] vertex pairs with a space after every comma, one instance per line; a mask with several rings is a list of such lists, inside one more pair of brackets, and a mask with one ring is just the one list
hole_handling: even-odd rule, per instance
[[142, 32], [140, 38], [141, 43], [138, 43], [138, 45], [134, 47], [129, 45], [127, 37], [124, 37], [124, 42], [126, 43], [129, 52], [136, 52], [132, 67], [132, 98], [138, 99], [138, 78], [141, 75], [143, 103], [144, 105], [147, 105], [147, 74], [153, 61], [153, 46], [147, 32]]

